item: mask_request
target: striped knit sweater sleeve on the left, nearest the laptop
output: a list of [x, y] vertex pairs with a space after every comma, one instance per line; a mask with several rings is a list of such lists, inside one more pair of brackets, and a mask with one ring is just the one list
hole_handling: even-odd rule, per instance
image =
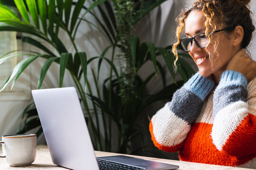
[[178, 151], [201, 111], [202, 102], [214, 82], [196, 73], [177, 90], [171, 102], [152, 117], [149, 130], [156, 147], [167, 152]]

